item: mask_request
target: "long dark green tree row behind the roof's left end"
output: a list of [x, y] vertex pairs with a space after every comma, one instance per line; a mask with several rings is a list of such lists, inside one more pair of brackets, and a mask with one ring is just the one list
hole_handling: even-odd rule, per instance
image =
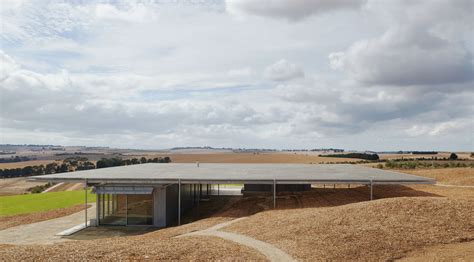
[[125, 166], [135, 165], [144, 163], [169, 163], [171, 159], [169, 157], [155, 157], [147, 159], [142, 157], [132, 159], [121, 159], [118, 157], [113, 158], [102, 158], [97, 161], [97, 165], [89, 161], [85, 157], [69, 157], [62, 161], [62, 163], [49, 163], [46, 165], [34, 165], [25, 166], [23, 168], [10, 168], [0, 169], [0, 178], [12, 178], [12, 177], [27, 177], [27, 176], [40, 176], [56, 173], [73, 172], [79, 170], [88, 170], [95, 168], [105, 168], [112, 166]]

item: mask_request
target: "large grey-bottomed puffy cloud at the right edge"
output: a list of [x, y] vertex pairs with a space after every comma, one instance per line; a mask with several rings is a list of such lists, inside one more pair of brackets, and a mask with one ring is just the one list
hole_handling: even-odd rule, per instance
[[[423, 35], [424, 34], [424, 35]], [[345, 52], [329, 55], [333, 69], [368, 84], [420, 85], [473, 79], [471, 54], [427, 32], [390, 30], [379, 38], [361, 40]]]

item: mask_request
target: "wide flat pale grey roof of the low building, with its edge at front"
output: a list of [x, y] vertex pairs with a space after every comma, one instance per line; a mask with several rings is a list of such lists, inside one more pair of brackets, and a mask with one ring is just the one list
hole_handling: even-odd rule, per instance
[[32, 177], [104, 184], [433, 184], [434, 179], [351, 164], [139, 164]]

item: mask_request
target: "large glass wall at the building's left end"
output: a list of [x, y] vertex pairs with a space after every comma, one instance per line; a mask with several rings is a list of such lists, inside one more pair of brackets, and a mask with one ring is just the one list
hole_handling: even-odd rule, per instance
[[153, 195], [99, 194], [100, 225], [152, 225]]

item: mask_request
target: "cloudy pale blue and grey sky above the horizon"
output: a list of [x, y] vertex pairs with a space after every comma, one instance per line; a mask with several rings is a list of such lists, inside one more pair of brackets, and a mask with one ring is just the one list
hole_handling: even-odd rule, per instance
[[0, 2], [0, 143], [474, 151], [473, 0]]

